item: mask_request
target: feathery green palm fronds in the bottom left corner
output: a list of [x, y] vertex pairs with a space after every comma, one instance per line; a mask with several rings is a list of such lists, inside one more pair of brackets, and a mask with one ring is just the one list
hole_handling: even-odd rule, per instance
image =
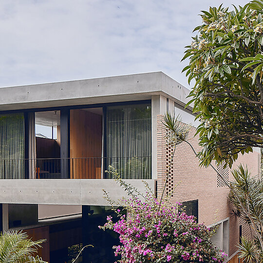
[[22, 231], [0, 234], [0, 263], [45, 263], [38, 256], [38, 247], [45, 240], [32, 241]]

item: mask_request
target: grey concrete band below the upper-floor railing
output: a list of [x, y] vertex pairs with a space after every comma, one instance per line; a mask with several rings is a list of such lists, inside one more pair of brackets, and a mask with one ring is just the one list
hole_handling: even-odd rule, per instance
[[[125, 181], [145, 192], [141, 180]], [[154, 180], [144, 181], [154, 189]], [[112, 200], [127, 196], [112, 179], [2, 179], [0, 200], [4, 204], [108, 206], [102, 189], [109, 192]]]

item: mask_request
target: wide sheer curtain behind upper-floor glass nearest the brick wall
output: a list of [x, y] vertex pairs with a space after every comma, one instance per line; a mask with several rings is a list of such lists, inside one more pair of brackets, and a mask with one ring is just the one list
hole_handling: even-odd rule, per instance
[[124, 179], [151, 178], [151, 108], [107, 108], [107, 166]]

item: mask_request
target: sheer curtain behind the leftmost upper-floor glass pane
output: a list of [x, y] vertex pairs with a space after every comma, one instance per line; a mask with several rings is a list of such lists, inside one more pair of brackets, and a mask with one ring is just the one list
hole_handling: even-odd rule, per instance
[[0, 178], [24, 178], [23, 113], [0, 114]]

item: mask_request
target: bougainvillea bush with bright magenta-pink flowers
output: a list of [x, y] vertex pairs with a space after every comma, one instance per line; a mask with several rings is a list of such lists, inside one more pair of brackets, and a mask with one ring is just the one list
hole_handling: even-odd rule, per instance
[[128, 216], [113, 206], [119, 220], [113, 222], [108, 216], [107, 223], [99, 226], [120, 234], [121, 245], [113, 246], [115, 255], [121, 257], [119, 263], [224, 262], [226, 254], [209, 240], [213, 232], [180, 209], [180, 203], [175, 207], [160, 204], [150, 189], [146, 196], [130, 193], [130, 199], [115, 203], [124, 207]]

